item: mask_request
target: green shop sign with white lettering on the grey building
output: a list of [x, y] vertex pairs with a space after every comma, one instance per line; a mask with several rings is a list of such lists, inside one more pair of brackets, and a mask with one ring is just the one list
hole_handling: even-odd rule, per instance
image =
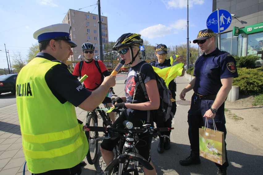
[[252, 34], [252, 33], [257, 33], [257, 32], [262, 32], [263, 31], [263, 22], [254, 24], [251, 26], [246, 26], [243, 29], [240, 29], [236, 26], [233, 28], [233, 35], [238, 36], [239, 34]]

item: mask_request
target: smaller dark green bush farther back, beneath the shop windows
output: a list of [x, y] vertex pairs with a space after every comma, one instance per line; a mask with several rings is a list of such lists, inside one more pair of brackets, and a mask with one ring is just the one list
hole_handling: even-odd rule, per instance
[[255, 55], [235, 57], [236, 67], [255, 68], [258, 57]]

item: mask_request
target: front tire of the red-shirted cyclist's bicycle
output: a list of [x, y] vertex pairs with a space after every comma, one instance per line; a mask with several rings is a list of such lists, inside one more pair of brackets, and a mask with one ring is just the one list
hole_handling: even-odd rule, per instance
[[[86, 125], [97, 126], [94, 114], [90, 113], [87, 116]], [[98, 137], [98, 132], [86, 131], [85, 134], [89, 143], [89, 151], [86, 158], [90, 165], [94, 165], [98, 157], [98, 140], [96, 140], [96, 138]]]

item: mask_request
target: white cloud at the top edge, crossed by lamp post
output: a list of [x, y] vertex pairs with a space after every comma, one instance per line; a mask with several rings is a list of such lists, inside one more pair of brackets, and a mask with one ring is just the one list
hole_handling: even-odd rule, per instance
[[[187, 0], [162, 0], [167, 9], [177, 9], [177, 8], [186, 8]], [[195, 4], [202, 5], [204, 0], [189, 0], [188, 7], [193, 7]]]

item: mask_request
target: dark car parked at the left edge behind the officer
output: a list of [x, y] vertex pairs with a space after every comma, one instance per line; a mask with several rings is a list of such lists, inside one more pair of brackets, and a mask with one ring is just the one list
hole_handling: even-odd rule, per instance
[[15, 82], [18, 74], [0, 75], [0, 94], [12, 92], [15, 94]]

